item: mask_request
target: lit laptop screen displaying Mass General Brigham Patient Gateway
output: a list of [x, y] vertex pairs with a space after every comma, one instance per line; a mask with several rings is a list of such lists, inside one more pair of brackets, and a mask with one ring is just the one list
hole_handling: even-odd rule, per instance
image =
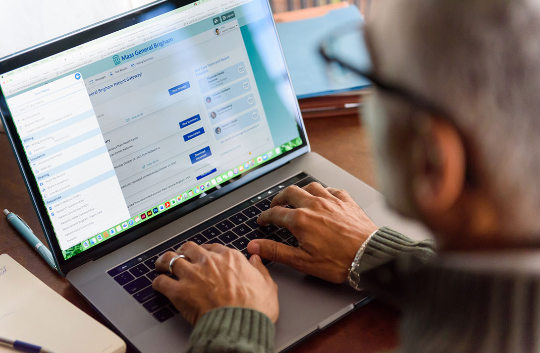
[[129, 16], [136, 24], [96, 26], [88, 42], [60, 39], [62, 51], [0, 72], [64, 260], [305, 145], [266, 2]]

